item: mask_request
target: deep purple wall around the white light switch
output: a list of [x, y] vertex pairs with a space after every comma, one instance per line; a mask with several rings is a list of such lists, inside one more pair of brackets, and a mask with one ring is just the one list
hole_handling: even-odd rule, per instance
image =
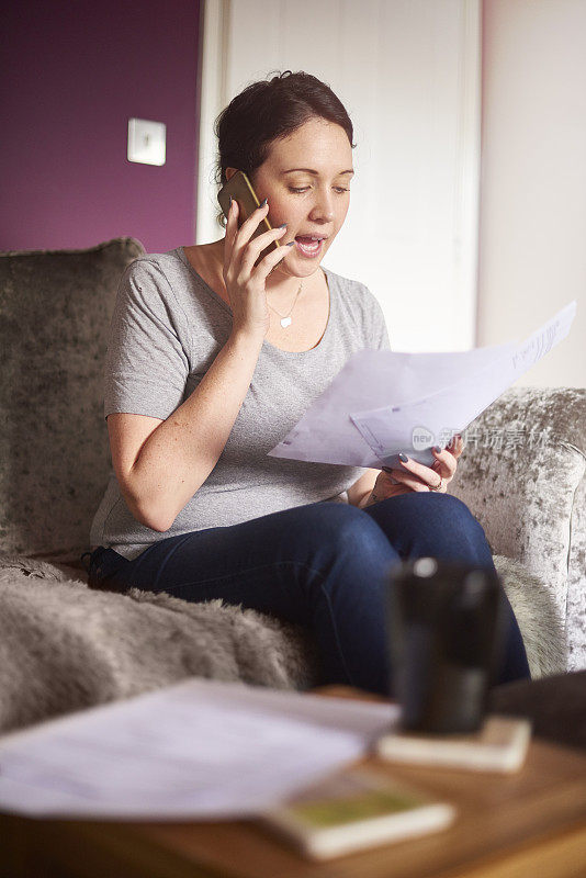
[[[192, 244], [200, 0], [23, 0], [2, 31], [0, 250]], [[162, 167], [127, 160], [132, 116], [167, 125]]]

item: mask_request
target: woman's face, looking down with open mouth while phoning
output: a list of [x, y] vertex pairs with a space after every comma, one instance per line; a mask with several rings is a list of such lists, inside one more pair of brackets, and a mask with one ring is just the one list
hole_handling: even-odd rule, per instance
[[[233, 170], [229, 172], [228, 179]], [[250, 182], [259, 201], [269, 200], [271, 226], [288, 225], [279, 243], [296, 240], [273, 275], [303, 278], [317, 270], [348, 213], [352, 175], [348, 135], [340, 125], [324, 119], [311, 119], [272, 144], [269, 157]], [[323, 240], [316, 246], [305, 236]]]

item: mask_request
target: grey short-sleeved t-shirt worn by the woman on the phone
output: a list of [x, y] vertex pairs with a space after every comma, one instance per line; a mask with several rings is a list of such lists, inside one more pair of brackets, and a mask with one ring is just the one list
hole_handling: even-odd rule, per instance
[[[345, 492], [364, 468], [268, 455], [356, 351], [391, 347], [382, 308], [370, 290], [329, 269], [324, 272], [330, 308], [319, 344], [293, 352], [264, 340], [216, 465], [169, 530], [151, 530], [131, 515], [112, 470], [91, 526], [91, 545], [110, 547], [132, 560], [151, 543], [189, 531], [320, 500], [348, 502]], [[120, 280], [110, 326], [104, 418], [128, 412], [167, 419], [193, 393], [230, 329], [230, 307], [198, 274], [182, 247], [135, 259]]]

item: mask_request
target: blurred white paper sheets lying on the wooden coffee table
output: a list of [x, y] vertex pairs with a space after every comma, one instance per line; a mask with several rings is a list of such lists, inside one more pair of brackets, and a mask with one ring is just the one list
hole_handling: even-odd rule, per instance
[[0, 738], [0, 810], [30, 817], [252, 817], [368, 753], [391, 702], [189, 678]]

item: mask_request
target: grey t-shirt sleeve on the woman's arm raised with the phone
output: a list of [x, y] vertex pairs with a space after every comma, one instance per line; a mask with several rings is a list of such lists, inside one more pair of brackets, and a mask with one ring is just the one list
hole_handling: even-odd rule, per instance
[[189, 375], [184, 312], [155, 262], [122, 274], [104, 367], [104, 418], [113, 412], [166, 420], [183, 402]]

